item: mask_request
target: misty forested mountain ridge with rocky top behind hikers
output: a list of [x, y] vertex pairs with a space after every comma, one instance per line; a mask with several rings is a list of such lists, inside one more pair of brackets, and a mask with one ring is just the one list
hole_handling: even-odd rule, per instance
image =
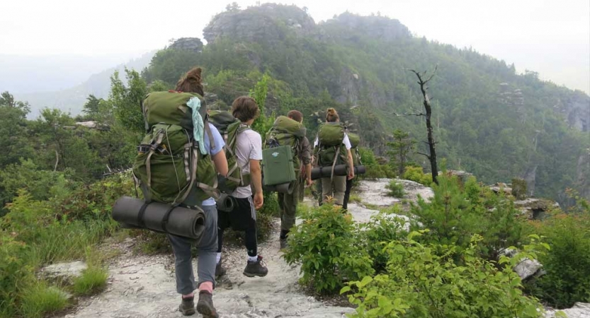
[[[398, 20], [343, 13], [317, 24], [296, 6], [232, 7], [203, 34], [202, 50], [158, 52], [142, 74], [147, 82], [172, 86], [189, 67], [203, 66], [205, 89], [227, 107], [268, 73], [269, 112], [302, 110], [314, 134], [321, 112], [335, 106], [365, 146], [385, 154], [394, 129], [426, 140], [421, 118], [394, 113], [420, 109], [407, 69], [438, 65], [429, 93], [438, 157], [449, 168], [488, 183], [525, 177], [536, 195], [554, 199], [566, 187], [590, 196], [590, 98], [540, 81], [534, 71], [517, 74], [514, 65], [472, 49], [413, 37]], [[426, 150], [421, 142], [419, 150]], [[424, 158], [414, 160], [426, 167]]]

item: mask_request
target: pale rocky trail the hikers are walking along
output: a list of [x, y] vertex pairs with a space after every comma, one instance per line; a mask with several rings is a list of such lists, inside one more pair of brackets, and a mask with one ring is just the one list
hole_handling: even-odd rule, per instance
[[[370, 206], [390, 206], [399, 202], [385, 196], [385, 184], [361, 182], [361, 199]], [[415, 186], [415, 185], [414, 185]], [[418, 192], [431, 195], [429, 188], [417, 187]], [[429, 192], [430, 191], [430, 192]], [[415, 194], [414, 194], [415, 193]], [[306, 200], [307, 201], [307, 200]], [[307, 204], [312, 204], [307, 201]], [[361, 204], [349, 204], [349, 211], [358, 222], [367, 221], [378, 211]], [[268, 275], [248, 278], [242, 274], [245, 266], [244, 247], [228, 247], [224, 251], [227, 274], [215, 289], [213, 301], [220, 317], [344, 317], [351, 307], [339, 307], [316, 300], [305, 293], [297, 280], [300, 266], [289, 266], [281, 259], [278, 242], [279, 221], [266, 242], [259, 242], [259, 254], [268, 266]], [[100, 295], [82, 300], [75, 312], [67, 318], [94, 317], [182, 317], [178, 312], [180, 297], [174, 283], [174, 257], [172, 255], [137, 256], [132, 253], [135, 241], [127, 238], [121, 245], [122, 254], [111, 261], [108, 287]], [[196, 259], [193, 260], [196, 271]], [[200, 317], [195, 314], [193, 317]]]

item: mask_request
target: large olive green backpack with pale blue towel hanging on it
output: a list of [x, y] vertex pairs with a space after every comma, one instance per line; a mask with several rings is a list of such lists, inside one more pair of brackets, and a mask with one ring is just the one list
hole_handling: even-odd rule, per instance
[[147, 190], [148, 202], [194, 206], [218, 196], [210, 155], [201, 154], [202, 145], [193, 140], [193, 112], [186, 105], [191, 98], [200, 100], [199, 112], [208, 131], [205, 100], [196, 93], [154, 92], [142, 102], [147, 134], [137, 146], [133, 175]]

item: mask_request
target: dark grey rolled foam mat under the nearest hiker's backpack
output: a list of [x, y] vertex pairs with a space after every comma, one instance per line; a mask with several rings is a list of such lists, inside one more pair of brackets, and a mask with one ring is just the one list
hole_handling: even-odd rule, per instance
[[[200, 240], [205, 232], [205, 213], [198, 208], [173, 207], [122, 196], [113, 206], [113, 220], [127, 228], [144, 228]], [[167, 217], [167, 220], [166, 220]]]

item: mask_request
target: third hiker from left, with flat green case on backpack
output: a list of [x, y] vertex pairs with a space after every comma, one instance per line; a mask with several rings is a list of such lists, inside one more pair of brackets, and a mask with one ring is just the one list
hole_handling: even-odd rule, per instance
[[[295, 212], [299, 202], [299, 194], [302, 191], [300, 184], [309, 187], [312, 185], [311, 177], [311, 155], [310, 141], [305, 136], [305, 126], [302, 124], [303, 114], [298, 110], [291, 110], [287, 117], [279, 116], [266, 134], [266, 145], [268, 148], [273, 146], [288, 146], [292, 151], [292, 157], [288, 160], [293, 162], [293, 178], [291, 193], [278, 192], [278, 206], [280, 208], [280, 249], [288, 247], [287, 237], [293, 225], [295, 225]], [[289, 168], [291, 169], [291, 168]], [[267, 171], [266, 173], [269, 173]], [[272, 174], [285, 174], [283, 169], [273, 170]]]

